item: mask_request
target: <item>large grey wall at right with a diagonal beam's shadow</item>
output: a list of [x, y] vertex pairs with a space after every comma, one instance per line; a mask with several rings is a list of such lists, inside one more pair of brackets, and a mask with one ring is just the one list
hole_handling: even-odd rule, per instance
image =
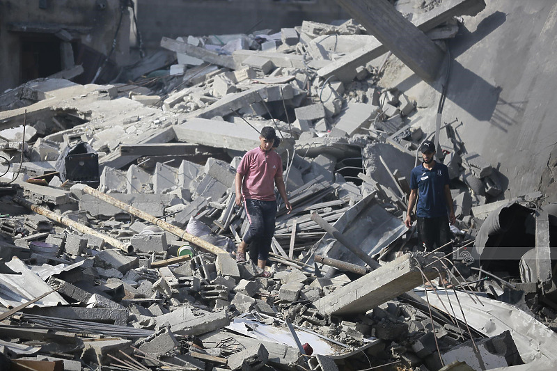
[[[540, 190], [547, 193], [548, 202], [555, 202], [556, 193], [544, 190], [554, 184], [552, 175], [547, 175], [555, 168], [555, 161], [550, 161], [556, 143], [555, 71], [546, 61], [557, 56], [557, 27], [551, 16], [556, 4], [549, 0], [486, 4], [479, 16], [462, 17], [463, 28], [448, 44], [454, 61], [442, 121], [462, 122], [457, 128], [459, 140], [468, 152], [492, 159], [503, 175], [505, 198]], [[407, 6], [405, 11], [411, 11], [411, 4]], [[526, 23], [532, 26], [517, 26]], [[437, 108], [445, 76], [446, 70], [427, 85], [391, 58], [380, 84], [398, 87], [417, 102]], [[424, 131], [434, 130], [436, 114], [437, 109], [421, 112], [419, 125]]]

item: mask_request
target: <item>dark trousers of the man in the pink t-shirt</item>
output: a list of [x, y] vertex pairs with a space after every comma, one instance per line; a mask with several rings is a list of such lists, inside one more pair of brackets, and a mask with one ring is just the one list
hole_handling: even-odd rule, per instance
[[249, 256], [257, 260], [267, 260], [269, 248], [274, 235], [276, 201], [261, 201], [246, 198], [244, 200], [249, 228], [244, 235], [244, 242], [249, 244]]

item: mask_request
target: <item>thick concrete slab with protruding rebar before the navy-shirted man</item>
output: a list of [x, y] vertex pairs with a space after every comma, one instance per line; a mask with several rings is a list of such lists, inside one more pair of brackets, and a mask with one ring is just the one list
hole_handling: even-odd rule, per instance
[[365, 314], [368, 310], [422, 285], [422, 274], [418, 267], [424, 267], [421, 269], [427, 278], [437, 277], [434, 265], [425, 265], [441, 256], [441, 253], [430, 253], [427, 257], [425, 253], [402, 255], [315, 301], [313, 306], [328, 315]]

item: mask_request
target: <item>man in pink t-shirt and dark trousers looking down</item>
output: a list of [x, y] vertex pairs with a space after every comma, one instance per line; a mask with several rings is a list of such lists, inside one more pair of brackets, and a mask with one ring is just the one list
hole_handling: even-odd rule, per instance
[[[276, 139], [275, 130], [266, 126], [261, 129], [259, 147], [246, 152], [238, 165], [236, 185], [236, 205], [241, 206], [242, 200], [246, 208], [249, 228], [238, 245], [237, 262], [246, 261], [246, 247], [249, 255], [258, 267], [265, 269], [269, 248], [274, 235], [276, 198], [274, 186], [284, 200], [288, 212], [292, 210], [283, 180], [282, 159], [272, 150]], [[263, 276], [269, 276], [264, 270]]]

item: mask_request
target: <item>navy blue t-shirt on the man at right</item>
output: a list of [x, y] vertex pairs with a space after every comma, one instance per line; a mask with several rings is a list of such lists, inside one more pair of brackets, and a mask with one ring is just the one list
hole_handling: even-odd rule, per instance
[[445, 184], [449, 184], [448, 169], [435, 161], [435, 166], [428, 170], [423, 164], [416, 166], [410, 173], [410, 188], [418, 189], [416, 216], [421, 218], [439, 218], [447, 214]]

